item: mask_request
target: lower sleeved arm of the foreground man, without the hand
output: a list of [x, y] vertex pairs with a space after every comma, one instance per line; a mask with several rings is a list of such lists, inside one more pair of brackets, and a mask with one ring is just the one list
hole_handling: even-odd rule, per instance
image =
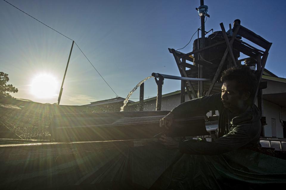
[[252, 138], [248, 135], [250, 126], [240, 125], [235, 127], [228, 134], [216, 139], [213, 142], [188, 142], [181, 141], [179, 149], [182, 153], [217, 155], [233, 151], [250, 143]]

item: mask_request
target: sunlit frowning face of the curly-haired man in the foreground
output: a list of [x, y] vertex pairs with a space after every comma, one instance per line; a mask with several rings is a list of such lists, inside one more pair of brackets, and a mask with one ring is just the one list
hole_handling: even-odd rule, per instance
[[221, 99], [223, 106], [231, 112], [240, 110], [245, 106], [245, 97], [237, 90], [237, 82], [234, 80], [225, 81], [221, 87]]

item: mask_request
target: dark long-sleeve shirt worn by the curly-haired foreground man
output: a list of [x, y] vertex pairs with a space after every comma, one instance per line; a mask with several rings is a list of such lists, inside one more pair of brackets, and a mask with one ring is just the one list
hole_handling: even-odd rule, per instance
[[[181, 113], [219, 111], [218, 139], [213, 142], [182, 141], [179, 149], [182, 153], [216, 155], [226, 153], [241, 147], [259, 146], [261, 132], [261, 114], [253, 105], [244, 113], [233, 115], [221, 102], [221, 93], [189, 100], [175, 107], [171, 113], [178, 116]], [[230, 121], [230, 122], [229, 122]]]

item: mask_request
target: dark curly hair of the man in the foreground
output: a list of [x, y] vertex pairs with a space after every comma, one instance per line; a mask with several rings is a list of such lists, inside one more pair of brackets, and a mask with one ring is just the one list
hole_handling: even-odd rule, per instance
[[256, 91], [257, 79], [253, 71], [248, 66], [231, 67], [223, 71], [220, 80], [221, 82], [225, 82], [227, 80], [236, 81], [237, 90], [239, 90], [241, 94], [243, 92], [250, 92], [250, 97], [247, 103], [251, 104]]

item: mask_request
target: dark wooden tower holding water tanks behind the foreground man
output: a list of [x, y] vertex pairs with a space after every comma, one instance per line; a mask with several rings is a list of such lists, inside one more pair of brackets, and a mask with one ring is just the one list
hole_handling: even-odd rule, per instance
[[[203, 5], [202, 0], [201, 5]], [[181, 103], [185, 101], [185, 91], [189, 99], [220, 92], [222, 86], [220, 83], [221, 73], [229, 67], [240, 65], [241, 61], [245, 59], [253, 58], [256, 60], [255, 74], [258, 79], [254, 97], [257, 97], [258, 107], [263, 116], [262, 89], [266, 88], [267, 84], [261, 84], [261, 78], [272, 43], [242, 25], [234, 26], [232, 36], [228, 36], [223, 23], [220, 23], [221, 31], [216, 31], [205, 37], [204, 17], [201, 19], [203, 24], [201, 27], [202, 37], [194, 41], [192, 52], [182, 53], [169, 48], [182, 77], [210, 79], [210, 82], [182, 80]], [[242, 37], [242, 40], [237, 38], [238, 36]], [[243, 41], [245, 39], [254, 43], [256, 47]], [[238, 59], [240, 54], [246, 55], [247, 58]], [[262, 130], [261, 135], [263, 136], [263, 134]]]

